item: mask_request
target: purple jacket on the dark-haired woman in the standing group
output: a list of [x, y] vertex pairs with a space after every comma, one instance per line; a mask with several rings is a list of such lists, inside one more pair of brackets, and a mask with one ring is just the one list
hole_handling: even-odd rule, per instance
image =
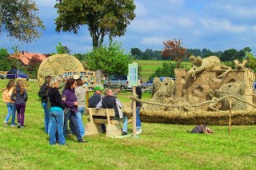
[[77, 102], [78, 99], [75, 96], [74, 89], [64, 89], [63, 96], [65, 98], [64, 105], [75, 113], [78, 112], [78, 106], [74, 105], [74, 102]]

